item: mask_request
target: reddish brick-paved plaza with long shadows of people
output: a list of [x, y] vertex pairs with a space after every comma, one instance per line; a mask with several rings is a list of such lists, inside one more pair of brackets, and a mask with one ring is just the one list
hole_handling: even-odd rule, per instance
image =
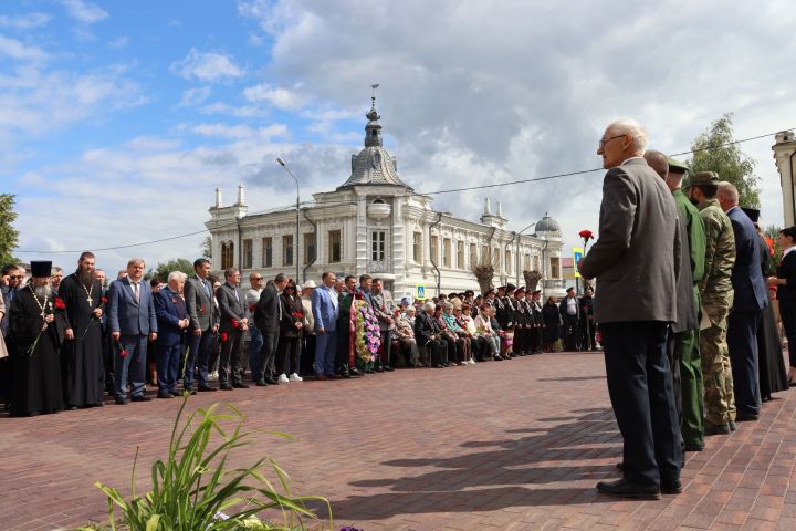
[[[268, 454], [298, 493], [327, 497], [335, 527], [374, 530], [796, 529], [796, 391], [760, 421], [688, 454], [684, 493], [616, 501], [619, 435], [601, 354], [537, 355], [468, 367], [405, 369], [191, 397], [229, 400], [249, 431], [238, 454]], [[71, 529], [106, 520], [100, 480], [129, 491], [165, 455], [177, 399], [0, 418], [0, 530]]]

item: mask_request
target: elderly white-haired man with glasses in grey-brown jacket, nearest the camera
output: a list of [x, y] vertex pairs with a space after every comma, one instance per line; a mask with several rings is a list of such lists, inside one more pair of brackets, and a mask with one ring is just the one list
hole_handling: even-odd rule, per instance
[[647, 134], [633, 121], [609, 125], [597, 154], [603, 181], [599, 240], [579, 262], [597, 278], [606, 376], [624, 438], [624, 477], [600, 481], [601, 492], [660, 499], [682, 491], [680, 425], [667, 357], [669, 323], [677, 319], [680, 235], [674, 199], [642, 155]]

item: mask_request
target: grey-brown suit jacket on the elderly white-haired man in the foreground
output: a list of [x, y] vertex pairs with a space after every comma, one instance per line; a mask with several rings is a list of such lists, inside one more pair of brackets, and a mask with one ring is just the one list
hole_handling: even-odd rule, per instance
[[677, 320], [678, 220], [671, 191], [643, 158], [608, 170], [599, 239], [580, 264], [580, 274], [597, 279], [596, 321]]

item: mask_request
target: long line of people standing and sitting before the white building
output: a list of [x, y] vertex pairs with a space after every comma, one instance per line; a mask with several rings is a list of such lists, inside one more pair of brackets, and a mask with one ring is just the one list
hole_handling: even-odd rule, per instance
[[140, 259], [108, 282], [95, 260], [83, 252], [69, 275], [44, 261], [29, 279], [23, 267], [3, 268], [0, 397], [12, 415], [100, 407], [105, 393], [145, 402], [147, 384], [171, 398], [512, 360], [557, 351], [559, 339], [597, 348], [590, 288], [546, 304], [541, 290], [513, 284], [396, 301], [368, 274], [329, 271], [297, 285], [252, 272], [244, 290], [238, 269], [221, 279], [207, 259], [166, 283], [144, 280]]

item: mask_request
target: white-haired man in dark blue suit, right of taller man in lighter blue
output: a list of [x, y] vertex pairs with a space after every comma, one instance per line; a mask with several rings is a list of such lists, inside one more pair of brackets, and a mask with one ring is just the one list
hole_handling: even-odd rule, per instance
[[[179, 396], [177, 379], [180, 373], [180, 361], [185, 351], [185, 331], [190, 324], [188, 309], [182, 299], [182, 290], [188, 278], [181, 271], [171, 271], [168, 285], [155, 293], [155, 313], [158, 322], [157, 374], [158, 398]], [[185, 392], [191, 395], [196, 391], [184, 385]]]

